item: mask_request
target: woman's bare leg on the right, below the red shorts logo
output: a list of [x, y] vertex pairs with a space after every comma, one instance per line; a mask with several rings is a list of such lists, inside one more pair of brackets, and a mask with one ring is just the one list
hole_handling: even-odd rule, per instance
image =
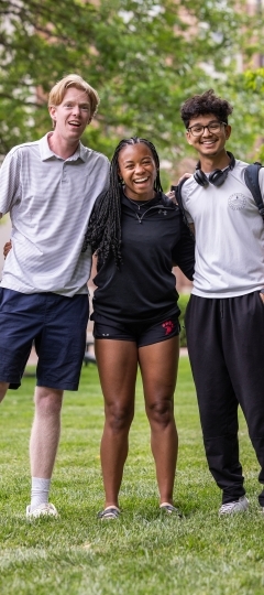
[[174, 419], [178, 355], [178, 337], [139, 349], [161, 504], [173, 504], [178, 454], [178, 434]]

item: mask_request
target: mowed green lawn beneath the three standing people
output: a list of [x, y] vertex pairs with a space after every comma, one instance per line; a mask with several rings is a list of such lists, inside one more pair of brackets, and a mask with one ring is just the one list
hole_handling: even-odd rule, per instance
[[175, 501], [185, 518], [164, 517], [139, 379], [136, 413], [121, 490], [122, 517], [101, 522], [99, 443], [103, 405], [95, 366], [67, 392], [51, 501], [59, 519], [25, 520], [28, 445], [34, 379], [24, 378], [1, 405], [1, 595], [263, 595], [264, 515], [258, 466], [241, 419], [241, 461], [251, 509], [218, 518], [220, 491], [206, 465], [187, 357], [176, 391], [179, 458]]

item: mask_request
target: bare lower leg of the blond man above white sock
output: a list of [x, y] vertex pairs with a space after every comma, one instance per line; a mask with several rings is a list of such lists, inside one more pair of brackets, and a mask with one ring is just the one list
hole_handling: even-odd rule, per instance
[[59, 434], [63, 390], [35, 389], [35, 416], [31, 431], [31, 475], [50, 479], [55, 463]]

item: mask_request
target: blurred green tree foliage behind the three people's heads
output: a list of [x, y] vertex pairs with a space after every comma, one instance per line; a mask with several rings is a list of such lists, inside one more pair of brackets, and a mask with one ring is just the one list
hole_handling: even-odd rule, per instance
[[101, 98], [84, 141], [108, 155], [133, 134], [173, 163], [191, 154], [179, 108], [212, 87], [235, 107], [231, 150], [256, 158], [263, 69], [251, 58], [264, 53], [262, 30], [245, 0], [1, 0], [0, 154], [51, 128], [47, 93], [75, 72]]

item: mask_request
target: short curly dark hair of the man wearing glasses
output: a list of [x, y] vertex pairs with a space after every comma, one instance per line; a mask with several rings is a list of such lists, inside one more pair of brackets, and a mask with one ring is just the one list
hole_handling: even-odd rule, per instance
[[180, 109], [180, 116], [185, 127], [188, 128], [193, 118], [207, 113], [213, 113], [219, 121], [228, 123], [228, 116], [232, 111], [232, 106], [226, 99], [221, 99], [215, 95], [213, 89], [209, 89], [202, 95], [195, 95], [187, 99]]

